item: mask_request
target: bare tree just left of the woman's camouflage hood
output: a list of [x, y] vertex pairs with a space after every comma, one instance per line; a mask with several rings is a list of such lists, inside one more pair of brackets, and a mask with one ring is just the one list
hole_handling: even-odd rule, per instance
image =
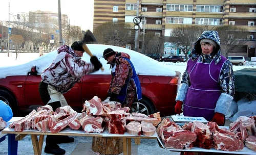
[[187, 56], [194, 42], [203, 31], [211, 29], [212, 27], [209, 25], [179, 25], [179, 27], [173, 30], [169, 41], [176, 44], [185, 55], [186, 60], [188, 60]]

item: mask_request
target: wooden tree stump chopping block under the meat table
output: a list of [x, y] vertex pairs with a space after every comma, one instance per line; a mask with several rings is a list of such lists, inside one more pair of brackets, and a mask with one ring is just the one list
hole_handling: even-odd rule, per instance
[[123, 152], [123, 140], [116, 137], [93, 137], [92, 150], [100, 154], [120, 154]]

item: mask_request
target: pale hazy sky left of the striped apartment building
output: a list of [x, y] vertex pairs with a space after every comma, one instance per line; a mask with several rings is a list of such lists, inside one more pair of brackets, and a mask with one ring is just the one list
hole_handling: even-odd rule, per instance
[[[29, 13], [29, 11], [51, 11], [58, 13], [57, 0], [1, 0], [0, 20], [9, 19], [9, 2], [10, 2], [10, 21], [17, 14]], [[82, 30], [90, 29], [93, 31], [93, 10], [94, 0], [60, 0], [61, 14], [67, 14], [71, 25], [80, 26]]]

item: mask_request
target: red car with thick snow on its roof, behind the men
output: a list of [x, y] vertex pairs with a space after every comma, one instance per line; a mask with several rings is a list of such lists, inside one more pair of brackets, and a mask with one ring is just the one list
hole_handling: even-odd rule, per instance
[[[146, 115], [160, 112], [161, 117], [175, 114], [174, 106], [180, 72], [173, 71], [168, 65], [123, 47], [98, 44], [88, 44], [88, 47], [100, 58], [105, 70], [83, 76], [68, 93], [64, 94], [68, 104], [74, 110], [81, 112], [84, 101], [94, 96], [98, 96], [101, 100], [105, 99], [111, 80], [111, 70], [109, 64], [106, 64], [102, 58], [102, 53], [104, 49], [112, 48], [129, 54], [139, 75], [142, 99], [134, 102], [132, 111]], [[0, 67], [0, 99], [12, 108], [15, 116], [44, 105], [38, 92], [40, 73], [56, 56], [57, 53], [54, 50], [23, 65]], [[83, 54], [82, 59], [90, 62], [90, 57], [86, 53]]]

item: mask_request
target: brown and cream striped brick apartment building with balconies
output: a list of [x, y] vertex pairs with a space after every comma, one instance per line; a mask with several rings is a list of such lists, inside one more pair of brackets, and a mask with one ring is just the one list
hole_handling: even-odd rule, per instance
[[109, 21], [130, 23], [133, 28], [136, 16], [145, 23], [140, 28], [165, 37], [171, 36], [180, 24], [245, 27], [248, 29], [247, 38], [243, 38], [246, 48], [230, 55], [256, 57], [255, 0], [94, 0], [94, 29]]

